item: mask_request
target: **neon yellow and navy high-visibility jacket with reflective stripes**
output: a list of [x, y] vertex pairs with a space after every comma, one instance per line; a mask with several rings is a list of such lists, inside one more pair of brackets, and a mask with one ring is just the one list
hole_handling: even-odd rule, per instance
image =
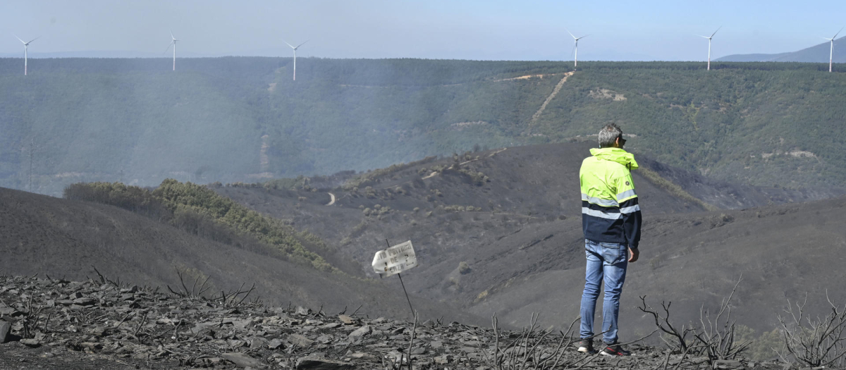
[[638, 247], [640, 205], [630, 171], [635, 168], [634, 155], [620, 148], [591, 149], [591, 156], [582, 161], [579, 182], [585, 239]]

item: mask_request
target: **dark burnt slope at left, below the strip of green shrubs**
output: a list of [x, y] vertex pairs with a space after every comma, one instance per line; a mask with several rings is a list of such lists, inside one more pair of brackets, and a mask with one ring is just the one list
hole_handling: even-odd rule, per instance
[[[274, 304], [338, 312], [361, 305], [372, 315], [410, 317], [401, 291], [377, 281], [321, 273], [278, 258], [260, 242], [223, 244], [103, 204], [0, 188], [0, 236], [3, 274], [85, 280], [98, 269], [117, 281], [179, 289], [180, 271], [189, 287], [206, 277], [217, 292], [255, 283], [253, 297]], [[415, 302], [426, 317], [480, 321], [426, 299]]]

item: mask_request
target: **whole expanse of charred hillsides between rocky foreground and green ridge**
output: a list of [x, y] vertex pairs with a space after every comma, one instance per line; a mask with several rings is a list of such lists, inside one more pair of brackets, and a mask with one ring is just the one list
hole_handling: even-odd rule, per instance
[[[424, 318], [479, 323], [497, 313], [523, 324], [561, 326], [578, 313], [583, 253], [578, 169], [591, 144], [486, 150], [365, 173], [300, 178], [294, 188], [211, 185], [262, 214], [337, 247], [358, 269], [326, 274], [273, 257], [259, 244], [206, 240], [102, 204], [0, 192], [0, 268], [83, 279], [96, 266], [141, 284], [176, 286], [174, 269], [210, 276], [217, 289], [255, 281], [268, 302], [340, 311], [365, 304], [376, 315], [408, 317], [396, 279], [375, 277], [373, 253], [412, 240], [420, 267], [406, 286]], [[640, 158], [634, 182], [644, 209], [641, 261], [624, 295], [624, 339], [645, 333], [638, 296], [673, 301], [679, 322], [698, 319], [744, 274], [734, 308], [739, 324], [772, 330], [786, 300], [810, 292], [825, 301], [827, 280], [843, 280], [846, 246], [838, 190], [754, 188], [716, 182]], [[334, 199], [334, 202], [332, 202]], [[794, 203], [789, 203], [794, 202]], [[781, 204], [780, 204], [781, 203]], [[771, 205], [767, 205], [771, 204]], [[776, 205], [772, 205], [776, 204]], [[846, 297], [829, 291], [835, 302]], [[352, 309], [352, 308], [351, 308]]]

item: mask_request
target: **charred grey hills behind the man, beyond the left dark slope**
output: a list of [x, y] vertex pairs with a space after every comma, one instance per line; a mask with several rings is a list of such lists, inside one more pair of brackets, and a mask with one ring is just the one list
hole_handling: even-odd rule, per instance
[[[357, 192], [217, 191], [337, 243], [369, 276], [372, 253], [384, 248], [385, 239], [412, 240], [420, 267], [404, 279], [415, 294], [480, 316], [498, 313], [503, 324], [515, 326], [543, 312], [542, 324], [560, 327], [578, 314], [584, 285], [578, 171], [591, 146], [547, 144], [423, 161], [383, 173]], [[734, 314], [756, 333], [774, 329], [786, 298], [799, 299], [805, 291], [809, 307], [827, 307], [825, 286], [810, 281], [846, 278], [838, 267], [846, 262], [838, 253], [846, 245], [838, 216], [846, 199], [809, 200], [839, 190], [741, 186], [636, 158], [698, 200], [633, 171], [644, 226], [641, 259], [630, 269], [622, 302], [624, 338], [651, 327], [635, 308], [640, 295], [653, 304], [672, 301], [680, 323], [698, 321], [699, 308], [718, 305], [740, 274]], [[431, 176], [442, 167], [448, 169]], [[475, 183], [468, 173], [479, 171], [490, 181]], [[335, 186], [344, 176], [312, 185]], [[336, 196], [332, 206], [325, 205], [328, 192]], [[805, 203], [790, 203], [799, 201]], [[707, 211], [702, 202], [723, 210]], [[376, 204], [389, 210], [380, 215]], [[468, 205], [473, 210], [450, 210]], [[459, 262], [470, 270], [462, 273]], [[394, 280], [387, 284], [400, 289]], [[831, 294], [835, 302], [846, 301], [840, 290]]]

